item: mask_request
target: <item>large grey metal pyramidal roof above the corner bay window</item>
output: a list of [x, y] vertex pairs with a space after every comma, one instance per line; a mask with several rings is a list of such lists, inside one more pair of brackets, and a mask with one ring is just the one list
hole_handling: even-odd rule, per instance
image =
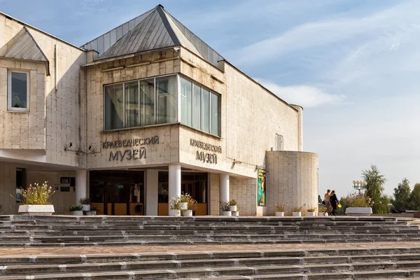
[[108, 59], [177, 45], [182, 45], [214, 66], [223, 59], [161, 5], [85, 43], [82, 48], [99, 52], [98, 59]]

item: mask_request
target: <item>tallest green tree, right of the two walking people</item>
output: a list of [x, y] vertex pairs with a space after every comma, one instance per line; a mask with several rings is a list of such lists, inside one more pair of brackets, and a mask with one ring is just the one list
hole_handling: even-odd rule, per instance
[[[370, 169], [363, 170], [362, 172], [363, 181], [366, 182], [365, 195], [370, 197], [373, 202], [372, 211], [374, 214], [378, 214], [382, 208], [379, 202], [381, 201], [381, 195], [384, 191], [384, 183], [387, 181], [384, 175], [379, 172], [376, 165], [370, 165]], [[376, 205], [375, 205], [376, 204]]]

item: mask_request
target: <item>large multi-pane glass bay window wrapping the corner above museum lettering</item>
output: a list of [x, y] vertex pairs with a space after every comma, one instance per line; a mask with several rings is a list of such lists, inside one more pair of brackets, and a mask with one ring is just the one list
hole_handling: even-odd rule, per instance
[[180, 123], [220, 136], [220, 95], [191, 80], [171, 75], [104, 86], [105, 130], [176, 123], [178, 110]]

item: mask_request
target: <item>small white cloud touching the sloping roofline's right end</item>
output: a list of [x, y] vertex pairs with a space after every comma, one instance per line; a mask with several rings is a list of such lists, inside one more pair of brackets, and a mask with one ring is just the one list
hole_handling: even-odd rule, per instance
[[258, 83], [267, 87], [271, 92], [290, 104], [297, 104], [302, 107], [316, 107], [325, 104], [343, 102], [344, 95], [329, 94], [321, 88], [312, 85], [288, 85], [281, 86], [269, 80], [256, 78]]

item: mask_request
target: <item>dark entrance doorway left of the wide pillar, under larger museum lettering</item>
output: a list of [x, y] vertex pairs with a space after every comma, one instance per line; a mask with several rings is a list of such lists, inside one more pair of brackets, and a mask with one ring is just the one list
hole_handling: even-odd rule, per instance
[[90, 172], [90, 200], [99, 215], [143, 215], [144, 172]]

